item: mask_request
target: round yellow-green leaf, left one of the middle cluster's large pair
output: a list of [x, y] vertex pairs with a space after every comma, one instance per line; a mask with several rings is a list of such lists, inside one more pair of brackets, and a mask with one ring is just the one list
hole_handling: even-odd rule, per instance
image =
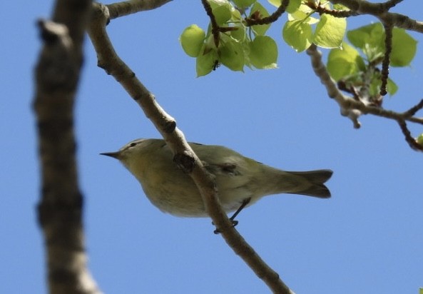
[[303, 21], [287, 21], [282, 29], [282, 38], [295, 51], [302, 52], [312, 44], [312, 28]]

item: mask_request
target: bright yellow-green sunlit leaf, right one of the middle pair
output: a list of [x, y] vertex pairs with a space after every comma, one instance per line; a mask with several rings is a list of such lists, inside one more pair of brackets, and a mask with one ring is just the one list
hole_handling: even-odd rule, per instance
[[339, 48], [344, 39], [347, 21], [345, 18], [322, 14], [316, 26], [313, 42], [322, 48]]

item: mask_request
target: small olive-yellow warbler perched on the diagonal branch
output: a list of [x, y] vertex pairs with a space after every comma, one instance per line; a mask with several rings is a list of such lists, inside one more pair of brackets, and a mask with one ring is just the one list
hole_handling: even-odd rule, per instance
[[[205, 168], [215, 176], [219, 200], [226, 212], [238, 210], [236, 215], [243, 207], [271, 194], [330, 198], [330, 191], [324, 185], [332, 176], [330, 170], [282, 171], [223, 146], [189, 144]], [[137, 139], [117, 152], [101, 155], [121, 161], [160, 211], [174, 216], [208, 216], [197, 186], [173, 162], [173, 153], [164, 140]]]

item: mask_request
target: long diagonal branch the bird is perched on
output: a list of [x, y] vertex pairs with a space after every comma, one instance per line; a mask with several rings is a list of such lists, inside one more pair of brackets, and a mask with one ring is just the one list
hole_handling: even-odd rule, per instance
[[232, 223], [220, 206], [218, 191], [212, 176], [203, 168], [202, 163], [185, 141], [183, 133], [176, 127], [175, 119], [165, 113], [156, 102], [153, 94], [143, 86], [133, 71], [116, 54], [106, 32], [106, 24], [109, 20], [108, 6], [93, 4], [93, 10], [88, 34], [97, 52], [98, 66], [121, 83], [156, 126], [175, 154], [175, 158], [178, 158], [178, 162], [183, 164], [185, 171], [189, 172], [198, 186], [205, 208], [213, 219], [213, 223], [221, 231], [226, 243], [243, 258], [245, 263], [253, 269], [259, 278], [265, 281], [273, 292], [292, 293], [287, 285], [280, 280], [279, 275], [265, 264], [238, 231], [233, 228]]

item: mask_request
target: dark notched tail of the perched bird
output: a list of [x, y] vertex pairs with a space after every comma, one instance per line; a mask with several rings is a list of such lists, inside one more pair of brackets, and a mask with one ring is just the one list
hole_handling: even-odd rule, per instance
[[331, 170], [290, 171], [289, 173], [292, 173], [295, 176], [300, 176], [311, 184], [302, 191], [291, 192], [292, 194], [301, 194], [318, 198], [330, 198], [330, 191], [324, 183], [332, 176]]

